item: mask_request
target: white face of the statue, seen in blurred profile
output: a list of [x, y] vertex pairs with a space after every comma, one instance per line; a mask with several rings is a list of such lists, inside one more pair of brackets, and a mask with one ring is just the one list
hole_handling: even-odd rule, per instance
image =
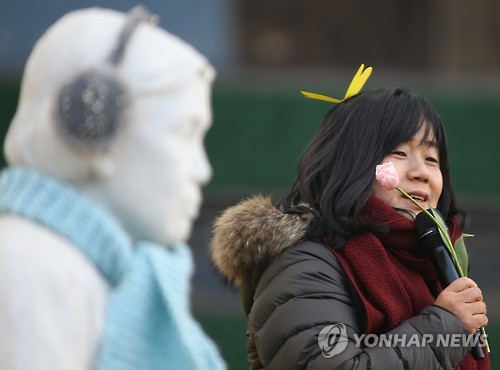
[[110, 155], [101, 199], [135, 239], [186, 241], [211, 177], [204, 137], [211, 124], [211, 81], [138, 98]]

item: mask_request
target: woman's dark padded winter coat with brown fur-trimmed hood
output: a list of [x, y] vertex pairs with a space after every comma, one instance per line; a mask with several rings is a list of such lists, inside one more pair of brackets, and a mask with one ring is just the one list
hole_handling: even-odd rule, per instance
[[[283, 214], [268, 198], [256, 197], [227, 209], [215, 222], [212, 258], [241, 288], [248, 314], [250, 369], [454, 369], [468, 348], [356, 344], [364, 311], [336, 257], [305, 241], [312, 215]], [[318, 334], [327, 325], [347, 328], [347, 347], [325, 357]], [[388, 334], [467, 334], [461, 321], [426, 307]], [[400, 336], [401, 338], [402, 336]]]

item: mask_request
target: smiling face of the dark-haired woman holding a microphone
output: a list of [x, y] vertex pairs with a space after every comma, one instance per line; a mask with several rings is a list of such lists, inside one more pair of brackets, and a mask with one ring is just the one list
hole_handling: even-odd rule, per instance
[[[400, 179], [400, 187], [410, 194], [425, 208], [436, 208], [443, 190], [443, 175], [440, 168], [440, 158], [437, 143], [428, 140], [433, 137], [429, 132], [428, 138], [424, 137], [425, 123], [415, 136], [408, 142], [396, 147], [383, 160], [392, 162]], [[404, 197], [398, 190], [387, 190], [375, 181], [373, 195], [380, 198], [393, 208], [404, 209], [416, 215], [420, 212], [411, 200]], [[411, 219], [411, 215], [402, 212]]]

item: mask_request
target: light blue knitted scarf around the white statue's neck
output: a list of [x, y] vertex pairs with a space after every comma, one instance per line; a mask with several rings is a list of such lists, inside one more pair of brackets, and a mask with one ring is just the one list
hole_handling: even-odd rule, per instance
[[0, 174], [0, 214], [16, 214], [68, 239], [113, 287], [96, 368], [225, 369], [190, 313], [186, 245], [132, 245], [122, 227], [76, 189], [34, 170]]

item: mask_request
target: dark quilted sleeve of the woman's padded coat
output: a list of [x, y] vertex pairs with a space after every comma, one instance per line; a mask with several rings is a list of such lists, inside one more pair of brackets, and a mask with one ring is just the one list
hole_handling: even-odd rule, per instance
[[[414, 335], [424, 346], [360, 346], [362, 324], [348, 287], [339, 262], [321, 244], [303, 242], [278, 256], [259, 281], [249, 315], [251, 368], [450, 369], [467, 355], [466, 347], [430, 343], [436, 334], [467, 334], [455, 315], [437, 306], [385, 333], [386, 338]], [[338, 342], [339, 353], [328, 357], [318, 335], [335, 324], [343, 324], [348, 340]]]

